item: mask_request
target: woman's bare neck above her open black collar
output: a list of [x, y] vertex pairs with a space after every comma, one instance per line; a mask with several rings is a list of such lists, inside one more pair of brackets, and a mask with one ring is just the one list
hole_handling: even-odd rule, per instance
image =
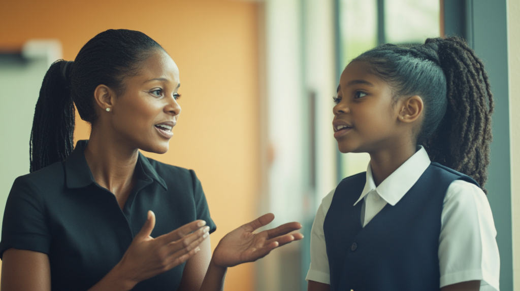
[[90, 172], [99, 186], [114, 193], [122, 205], [134, 186], [134, 172], [139, 151], [118, 143], [106, 131], [94, 130], [90, 133], [85, 159]]

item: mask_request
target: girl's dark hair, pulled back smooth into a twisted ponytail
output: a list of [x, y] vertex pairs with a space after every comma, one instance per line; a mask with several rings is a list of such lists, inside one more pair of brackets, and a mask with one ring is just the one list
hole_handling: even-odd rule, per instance
[[428, 38], [410, 48], [382, 45], [354, 61], [369, 63], [371, 72], [394, 88], [395, 99], [419, 95], [424, 117], [417, 144], [432, 161], [484, 187], [493, 95], [483, 62], [464, 40]]

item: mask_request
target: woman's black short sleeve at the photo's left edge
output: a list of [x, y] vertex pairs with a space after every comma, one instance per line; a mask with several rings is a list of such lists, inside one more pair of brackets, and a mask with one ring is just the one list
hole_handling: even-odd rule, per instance
[[27, 176], [18, 177], [7, 198], [0, 259], [11, 247], [49, 254], [50, 232], [41, 193]]

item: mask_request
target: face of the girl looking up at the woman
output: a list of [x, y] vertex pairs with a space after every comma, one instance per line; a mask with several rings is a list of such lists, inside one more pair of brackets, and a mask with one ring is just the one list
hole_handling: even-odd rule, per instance
[[332, 125], [342, 153], [370, 154], [396, 144], [400, 136], [392, 87], [367, 68], [368, 63], [356, 61], [341, 74]]

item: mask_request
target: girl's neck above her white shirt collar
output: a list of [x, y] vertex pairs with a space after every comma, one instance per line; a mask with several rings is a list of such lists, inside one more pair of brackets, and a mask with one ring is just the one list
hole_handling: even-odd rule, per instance
[[375, 186], [379, 186], [388, 176], [401, 167], [415, 154], [415, 151], [417, 151], [415, 143], [408, 142], [369, 153]]

